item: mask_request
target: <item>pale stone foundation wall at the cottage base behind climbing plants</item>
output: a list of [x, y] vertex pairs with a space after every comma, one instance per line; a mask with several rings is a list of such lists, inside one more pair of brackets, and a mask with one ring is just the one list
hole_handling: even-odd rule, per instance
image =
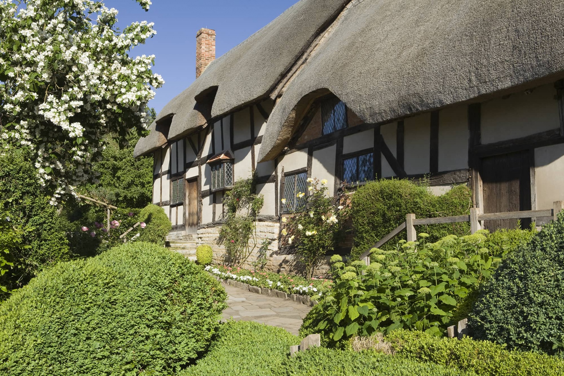
[[[303, 265], [297, 262], [296, 255], [281, 255], [278, 249], [279, 223], [274, 222], [255, 222], [256, 243], [250, 240], [253, 251], [245, 261], [245, 268], [253, 268], [253, 262], [257, 260], [258, 250], [263, 240], [270, 240], [267, 252], [267, 263], [265, 269], [275, 273], [301, 274], [304, 270]], [[224, 263], [225, 249], [216, 243], [219, 235], [219, 225], [212, 225], [198, 229], [196, 237], [197, 245], [207, 244], [213, 249], [213, 262], [216, 264]], [[314, 275], [325, 277], [329, 275], [329, 256], [325, 262], [316, 269]]]

